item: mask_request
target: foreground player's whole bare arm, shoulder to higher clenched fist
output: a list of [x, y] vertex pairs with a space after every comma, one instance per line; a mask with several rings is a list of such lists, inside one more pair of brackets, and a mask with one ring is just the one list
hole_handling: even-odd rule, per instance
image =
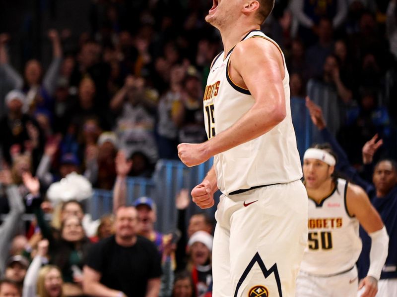
[[238, 85], [245, 85], [255, 103], [234, 125], [209, 141], [179, 145], [179, 156], [188, 166], [198, 165], [213, 155], [258, 138], [285, 118], [282, 84], [285, 74], [276, 46], [263, 38], [251, 38], [236, 46], [230, 61], [231, 79]]

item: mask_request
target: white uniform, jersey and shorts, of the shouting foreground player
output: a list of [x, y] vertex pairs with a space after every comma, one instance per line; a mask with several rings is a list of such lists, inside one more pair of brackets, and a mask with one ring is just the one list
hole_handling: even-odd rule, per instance
[[[215, 213], [213, 297], [292, 297], [307, 243], [307, 194], [290, 110], [283, 57], [286, 117], [264, 135], [214, 156], [222, 192]], [[255, 103], [229, 77], [230, 56], [221, 52], [210, 69], [203, 109], [208, 139], [240, 119]], [[233, 60], [231, 61], [233, 63]]]

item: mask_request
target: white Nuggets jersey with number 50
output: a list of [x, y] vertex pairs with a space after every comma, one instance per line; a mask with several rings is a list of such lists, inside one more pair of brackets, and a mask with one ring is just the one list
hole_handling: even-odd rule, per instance
[[361, 252], [359, 222], [347, 212], [347, 182], [338, 179], [329, 197], [316, 203], [309, 197], [308, 246], [300, 269], [330, 276], [354, 267]]

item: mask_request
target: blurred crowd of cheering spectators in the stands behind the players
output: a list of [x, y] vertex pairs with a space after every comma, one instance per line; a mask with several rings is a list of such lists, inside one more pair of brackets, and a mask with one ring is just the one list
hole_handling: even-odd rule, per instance
[[[374, 159], [397, 158], [396, 2], [278, 0], [262, 28], [284, 51], [292, 106], [310, 96], [358, 173], [375, 134], [383, 146]], [[123, 205], [128, 177], [150, 178], [159, 159], [178, 158], [179, 143], [206, 139], [203, 90], [222, 50], [204, 21], [211, 5], [92, 1], [79, 15], [90, 32], [48, 30], [47, 69], [33, 56], [16, 69], [13, 36], [0, 32], [0, 296], [8, 287], [40, 297], [132, 296], [138, 287], [136, 296], [210, 296], [212, 221], [200, 213], [185, 222], [189, 191], [176, 198], [179, 232], [168, 235], [154, 230], [152, 199]], [[292, 108], [295, 126], [305, 114]], [[320, 141], [315, 125], [307, 133]], [[82, 203], [92, 188], [114, 193], [113, 214], [99, 221]], [[36, 219], [16, 236], [26, 212]], [[133, 239], [157, 249], [120, 262]]]

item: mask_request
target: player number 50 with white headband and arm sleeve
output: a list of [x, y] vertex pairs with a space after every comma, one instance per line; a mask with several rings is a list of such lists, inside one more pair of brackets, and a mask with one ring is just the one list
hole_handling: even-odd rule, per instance
[[[389, 237], [362, 188], [332, 173], [329, 146], [306, 150], [303, 175], [309, 196], [309, 240], [297, 279], [297, 297], [374, 297], [388, 255]], [[359, 224], [372, 239], [370, 268], [358, 286]]]

